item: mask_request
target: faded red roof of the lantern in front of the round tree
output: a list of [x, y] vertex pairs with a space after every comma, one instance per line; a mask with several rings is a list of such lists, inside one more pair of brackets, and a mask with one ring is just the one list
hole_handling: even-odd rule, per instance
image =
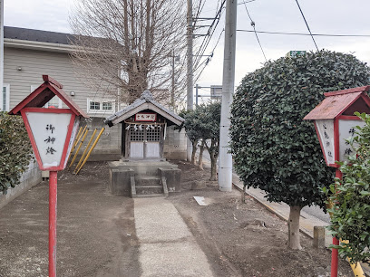
[[[343, 114], [356, 100], [362, 98], [370, 107], [370, 98], [365, 91], [369, 91], [370, 86], [358, 87], [343, 91], [330, 91], [324, 93], [326, 99], [322, 100], [314, 110], [311, 110], [304, 120], [310, 119], [335, 119]], [[361, 110], [358, 110], [361, 112]]]

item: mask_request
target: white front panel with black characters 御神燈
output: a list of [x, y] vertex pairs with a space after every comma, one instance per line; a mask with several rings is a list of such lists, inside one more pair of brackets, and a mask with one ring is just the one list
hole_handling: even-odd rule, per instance
[[59, 166], [72, 114], [26, 112], [25, 115], [43, 166]]

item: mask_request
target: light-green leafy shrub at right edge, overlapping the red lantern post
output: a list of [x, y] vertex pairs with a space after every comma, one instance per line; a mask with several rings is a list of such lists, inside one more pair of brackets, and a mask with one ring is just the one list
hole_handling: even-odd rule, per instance
[[332, 218], [328, 228], [336, 237], [349, 241], [333, 246], [341, 256], [348, 257], [351, 263], [370, 264], [370, 115], [356, 115], [365, 121], [365, 126], [357, 126], [358, 136], [347, 140], [355, 155], [339, 163], [343, 182], [336, 178], [330, 186], [333, 208], [329, 209]]

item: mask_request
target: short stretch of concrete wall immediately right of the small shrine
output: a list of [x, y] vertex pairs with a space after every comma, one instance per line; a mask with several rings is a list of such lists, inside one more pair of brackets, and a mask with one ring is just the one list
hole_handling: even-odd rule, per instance
[[166, 139], [163, 145], [164, 158], [186, 160], [186, 133], [185, 129], [167, 128]]

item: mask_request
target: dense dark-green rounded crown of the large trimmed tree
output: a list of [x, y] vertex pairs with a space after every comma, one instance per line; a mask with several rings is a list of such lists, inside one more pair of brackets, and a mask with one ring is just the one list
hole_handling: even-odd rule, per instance
[[314, 124], [302, 120], [324, 92], [365, 85], [369, 68], [353, 55], [319, 51], [283, 57], [242, 80], [231, 108], [231, 152], [246, 186], [287, 205], [325, 205], [333, 180]]

